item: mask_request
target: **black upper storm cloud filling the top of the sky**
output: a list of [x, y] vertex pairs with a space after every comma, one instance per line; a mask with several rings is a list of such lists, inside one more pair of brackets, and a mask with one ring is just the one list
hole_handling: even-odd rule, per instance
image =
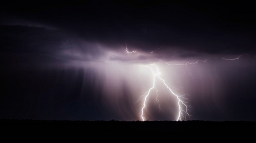
[[73, 32], [113, 50], [127, 43], [129, 48], [146, 53], [161, 45], [165, 50], [201, 54], [255, 53], [256, 28], [250, 3], [85, 1], [18, 7], [19, 4], [7, 3], [2, 11]]

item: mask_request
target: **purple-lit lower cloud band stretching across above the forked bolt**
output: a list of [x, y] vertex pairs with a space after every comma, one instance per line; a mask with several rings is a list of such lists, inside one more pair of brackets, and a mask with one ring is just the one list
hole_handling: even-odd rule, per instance
[[[170, 34], [167, 34], [165, 40], [160, 40], [162, 37], [160, 36], [155, 37], [155, 40], [147, 41], [153, 33], [148, 33], [148, 35], [144, 33], [145, 35], [139, 37], [139, 33], [128, 32], [125, 35], [129, 38], [125, 39], [122, 35], [114, 37], [113, 34], [116, 33], [110, 32], [105, 33], [106, 38], [99, 36], [92, 40], [87, 39], [86, 36], [47, 28], [22, 25], [2, 25], [0, 28], [2, 53], [34, 53], [63, 59], [63, 61], [152, 60], [154, 62], [156, 60], [199, 59], [225, 54], [253, 55], [255, 53], [255, 48], [253, 48], [255, 42], [239, 33], [219, 33], [218, 35], [194, 33], [194, 36], [193, 33], [181, 31], [181, 34], [176, 34], [177, 36], [172, 33], [172, 38], [168, 38]], [[92, 37], [97, 37], [97, 32], [90, 32], [90, 34]], [[136, 50], [137, 52], [127, 53], [126, 44], [129, 51]], [[47, 60], [49, 58], [46, 58]]]

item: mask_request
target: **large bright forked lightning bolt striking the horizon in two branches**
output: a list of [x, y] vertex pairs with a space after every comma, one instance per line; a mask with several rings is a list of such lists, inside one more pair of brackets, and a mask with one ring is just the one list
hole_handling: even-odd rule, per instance
[[[179, 95], [179, 94], [176, 94], [172, 91], [172, 89], [168, 86], [168, 84], [166, 83], [166, 81], [164, 79], [162, 79], [162, 77], [160, 77], [161, 73], [159, 71], [159, 68], [158, 66], [156, 66], [156, 64], [150, 64], [151, 66], [154, 66], [156, 68], [156, 72], [154, 72], [154, 70], [150, 67], [150, 66], [146, 66], [147, 68], [150, 69], [151, 73], [152, 73], [152, 77], [153, 77], [153, 84], [151, 86], [150, 89], [148, 89], [148, 91], [143, 95], [145, 96], [144, 97], [144, 102], [143, 102], [143, 107], [141, 109], [141, 118], [142, 120], [146, 120], [146, 118], [144, 117], [144, 108], [146, 107], [146, 102], [147, 102], [147, 98], [148, 96], [150, 95], [151, 93], [151, 90], [152, 89], [156, 89], [156, 86], [155, 86], [155, 81], [156, 79], [162, 81], [162, 83], [166, 86], [166, 88], [170, 91], [170, 93], [175, 96], [177, 98], [177, 105], [179, 106], [179, 114], [177, 116], [177, 119], [176, 120], [181, 120], [181, 116], [184, 117], [184, 119], [186, 120], [187, 118], [190, 118], [191, 115], [189, 115], [188, 113], [188, 107], [191, 107], [189, 105], [186, 105], [187, 102], [183, 101], [184, 99], [188, 100], [188, 98], [186, 98], [185, 96], [188, 95], [188, 94], [184, 94], [184, 95]], [[158, 93], [158, 90], [156, 89], [156, 94]], [[142, 96], [141, 96], [142, 97]], [[141, 99], [140, 97], [140, 99]], [[156, 101], [158, 101], [159, 103], [159, 100], [157, 99], [158, 97], [158, 94], [156, 96]], [[160, 103], [159, 103], [159, 109], [160, 109]]]

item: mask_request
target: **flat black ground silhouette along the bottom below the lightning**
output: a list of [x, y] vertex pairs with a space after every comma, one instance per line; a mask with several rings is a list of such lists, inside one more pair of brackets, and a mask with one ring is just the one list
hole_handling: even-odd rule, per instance
[[1, 137], [253, 137], [256, 122], [1, 119]]

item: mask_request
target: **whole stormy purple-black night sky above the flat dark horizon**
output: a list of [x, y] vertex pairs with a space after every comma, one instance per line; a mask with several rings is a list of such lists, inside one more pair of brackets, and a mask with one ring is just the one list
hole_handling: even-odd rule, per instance
[[[142, 120], [158, 66], [186, 120], [256, 121], [255, 14], [245, 1], [1, 1], [0, 119]], [[177, 98], [158, 79], [143, 111], [176, 120]]]

